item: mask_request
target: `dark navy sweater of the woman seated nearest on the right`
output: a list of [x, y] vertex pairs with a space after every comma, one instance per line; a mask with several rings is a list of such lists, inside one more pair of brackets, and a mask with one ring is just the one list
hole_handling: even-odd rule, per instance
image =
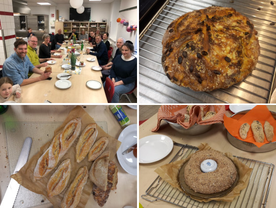
[[137, 80], [137, 58], [124, 61], [122, 56], [117, 56], [110, 70], [110, 78], [116, 76], [121, 77], [124, 84], [135, 82]]

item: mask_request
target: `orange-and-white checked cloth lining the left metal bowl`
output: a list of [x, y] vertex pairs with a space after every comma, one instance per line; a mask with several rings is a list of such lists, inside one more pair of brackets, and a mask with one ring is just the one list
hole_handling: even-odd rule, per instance
[[[223, 115], [225, 113], [224, 105], [193, 105], [193, 107], [190, 109], [190, 112], [189, 112], [189, 115], [190, 115], [189, 122], [184, 122], [184, 118], [185, 118], [184, 114], [187, 113], [186, 107], [187, 105], [162, 105], [158, 110], [157, 126], [153, 128], [151, 131], [152, 132], [158, 131], [162, 119], [166, 119], [173, 123], [178, 123], [185, 129], [190, 128], [195, 123], [199, 125], [223, 123]], [[215, 111], [216, 115], [214, 115], [210, 119], [202, 121], [201, 107], [203, 107], [204, 114], [206, 114], [208, 111]]]

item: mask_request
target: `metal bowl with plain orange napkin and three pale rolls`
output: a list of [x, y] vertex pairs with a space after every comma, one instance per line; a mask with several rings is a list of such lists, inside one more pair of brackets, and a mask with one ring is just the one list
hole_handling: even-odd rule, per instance
[[[233, 117], [237, 114], [245, 114], [248, 111], [249, 110], [243, 110], [241, 112], [235, 113], [231, 117]], [[276, 118], [276, 112], [273, 112], [273, 111], [270, 111], [270, 112], [271, 112], [272, 116], [274, 118]], [[276, 141], [264, 144], [261, 147], [257, 147], [253, 143], [242, 141], [240, 139], [237, 139], [237, 138], [233, 137], [228, 131], [227, 131], [227, 139], [233, 146], [235, 146], [238, 149], [241, 149], [243, 151], [246, 151], [246, 152], [269, 152], [269, 151], [272, 151], [272, 150], [276, 149]]]

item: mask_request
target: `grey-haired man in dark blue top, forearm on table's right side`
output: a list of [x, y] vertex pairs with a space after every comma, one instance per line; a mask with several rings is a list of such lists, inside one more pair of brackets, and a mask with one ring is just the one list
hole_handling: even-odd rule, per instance
[[[98, 63], [100, 66], [107, 64], [108, 62], [108, 55], [107, 55], [107, 49], [102, 41], [101, 35], [96, 35], [96, 43], [97, 46], [93, 49], [86, 49], [86, 53], [89, 53], [91, 55], [94, 55], [98, 59]], [[95, 51], [95, 52], [94, 52]]]

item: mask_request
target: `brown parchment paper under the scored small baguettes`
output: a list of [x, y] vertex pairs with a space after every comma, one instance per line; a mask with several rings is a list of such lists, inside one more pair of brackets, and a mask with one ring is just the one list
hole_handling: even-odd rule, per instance
[[[54, 135], [58, 134], [70, 120], [72, 120], [73, 118], [79, 118], [79, 117], [81, 118], [81, 132], [88, 124], [95, 123], [94, 119], [88, 113], [86, 113], [85, 110], [81, 106], [76, 106], [74, 109], [72, 109], [70, 111], [70, 113], [69, 113], [68, 117], [65, 119], [64, 123], [55, 130]], [[97, 129], [98, 129], [98, 136], [97, 136], [96, 141], [98, 139], [100, 139], [101, 137], [107, 137], [109, 139], [105, 150], [110, 151], [110, 158], [109, 159], [112, 160], [114, 158], [114, 156], [117, 152], [117, 149], [119, 148], [121, 142], [118, 141], [117, 139], [114, 139], [114, 138], [110, 137], [98, 125], [97, 125]], [[49, 131], [53, 131], [53, 130], [49, 129]], [[80, 134], [81, 134], [81, 132], [80, 132]], [[67, 189], [68, 189], [69, 185], [71, 184], [71, 182], [73, 181], [73, 179], [74, 179], [77, 171], [79, 170], [79, 168], [81, 168], [83, 166], [87, 166], [88, 170], [90, 170], [90, 168], [92, 166], [92, 163], [93, 163], [93, 162], [88, 161], [87, 156], [80, 163], [76, 162], [76, 159], [75, 159], [75, 153], [76, 153], [75, 146], [77, 144], [77, 141], [78, 141], [78, 138], [74, 141], [72, 146], [69, 148], [68, 152], [59, 161], [57, 167], [55, 169], [53, 169], [48, 175], [41, 178], [40, 180], [36, 180], [36, 181], [34, 180], [35, 166], [36, 166], [38, 158], [50, 146], [51, 141], [48, 141], [47, 143], [45, 143], [40, 148], [40, 151], [37, 154], [35, 154], [25, 164], [25, 166], [23, 166], [23, 168], [20, 169], [20, 171], [18, 173], [11, 175], [11, 177], [13, 179], [15, 179], [20, 185], [24, 186], [25, 188], [27, 188], [27, 189], [29, 189], [29, 190], [37, 193], [37, 194], [44, 195], [53, 204], [54, 208], [60, 208], [61, 207], [60, 204], [61, 204], [61, 201], [63, 200], [64, 194], [67, 191]], [[64, 160], [66, 160], [68, 158], [71, 159], [71, 165], [72, 165], [72, 171], [71, 171], [71, 175], [70, 175], [70, 178], [69, 178], [69, 182], [68, 182], [66, 188], [59, 195], [54, 196], [52, 198], [48, 198], [47, 197], [47, 190], [46, 190], [47, 182], [48, 182], [49, 178], [51, 177], [51, 175], [57, 170], [59, 165]], [[82, 195], [81, 195], [81, 199], [80, 199], [80, 202], [79, 202], [77, 208], [84, 208], [85, 207], [85, 205], [86, 205], [86, 203], [89, 199], [89, 196], [92, 192], [92, 187], [93, 187], [93, 183], [88, 178], [87, 183], [84, 186], [84, 189], [83, 189], [83, 192], [82, 192]]]

